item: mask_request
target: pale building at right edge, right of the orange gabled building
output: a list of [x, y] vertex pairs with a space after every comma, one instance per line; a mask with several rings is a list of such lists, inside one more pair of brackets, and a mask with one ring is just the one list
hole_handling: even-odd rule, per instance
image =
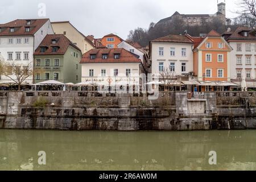
[[224, 32], [224, 38], [233, 48], [230, 53], [231, 81], [241, 85], [246, 80], [248, 88], [256, 88], [256, 36], [247, 27], [238, 27], [236, 31]]

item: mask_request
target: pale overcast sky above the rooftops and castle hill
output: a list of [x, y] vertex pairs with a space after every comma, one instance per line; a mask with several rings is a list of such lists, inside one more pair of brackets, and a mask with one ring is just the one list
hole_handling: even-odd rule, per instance
[[[224, 2], [224, 0], [218, 0]], [[226, 0], [226, 13], [233, 18], [235, 1]], [[214, 14], [217, 0], [1, 0], [0, 24], [14, 19], [43, 18], [38, 16], [39, 3], [46, 5], [51, 21], [69, 20], [85, 35], [96, 38], [110, 33], [126, 39], [130, 30], [148, 28], [178, 11], [181, 14]]]

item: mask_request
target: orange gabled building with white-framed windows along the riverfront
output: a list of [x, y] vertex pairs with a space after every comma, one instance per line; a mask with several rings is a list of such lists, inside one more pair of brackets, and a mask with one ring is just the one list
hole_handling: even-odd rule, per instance
[[226, 40], [214, 30], [205, 38], [190, 38], [195, 43], [194, 72], [198, 81], [229, 82], [232, 47]]

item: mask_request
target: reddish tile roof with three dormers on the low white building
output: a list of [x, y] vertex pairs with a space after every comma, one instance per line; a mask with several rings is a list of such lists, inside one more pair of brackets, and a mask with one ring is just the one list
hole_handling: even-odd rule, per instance
[[[109, 52], [108, 59], [102, 59], [102, 54]], [[119, 59], [114, 59], [114, 54], [119, 53]], [[96, 59], [91, 60], [90, 55], [96, 54]], [[141, 63], [133, 53], [126, 51], [123, 48], [100, 48], [100, 49], [92, 49], [82, 56], [80, 63]]]

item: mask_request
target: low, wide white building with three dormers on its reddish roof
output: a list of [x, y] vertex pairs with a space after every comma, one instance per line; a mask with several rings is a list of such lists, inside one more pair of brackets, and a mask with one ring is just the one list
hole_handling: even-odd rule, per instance
[[86, 52], [81, 59], [82, 82], [117, 84], [129, 81], [139, 84], [141, 60], [123, 48], [100, 48]]

